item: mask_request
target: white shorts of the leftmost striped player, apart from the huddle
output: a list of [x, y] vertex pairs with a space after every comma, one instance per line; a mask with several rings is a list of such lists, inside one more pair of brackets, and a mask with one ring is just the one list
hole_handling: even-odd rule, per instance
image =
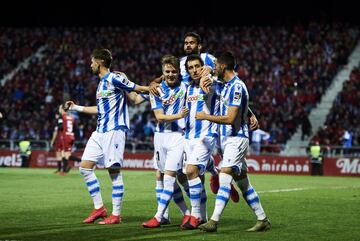
[[93, 161], [106, 168], [115, 163], [122, 166], [125, 148], [125, 132], [112, 130], [105, 133], [94, 131], [86, 143], [82, 160]]

